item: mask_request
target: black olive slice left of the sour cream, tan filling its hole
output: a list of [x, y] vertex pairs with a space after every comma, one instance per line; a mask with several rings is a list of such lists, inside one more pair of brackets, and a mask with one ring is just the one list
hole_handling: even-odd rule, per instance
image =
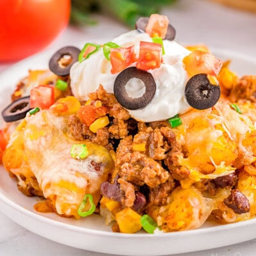
[[74, 46], [66, 46], [56, 51], [49, 61], [50, 70], [57, 76], [68, 76], [70, 68], [78, 60], [81, 50]]

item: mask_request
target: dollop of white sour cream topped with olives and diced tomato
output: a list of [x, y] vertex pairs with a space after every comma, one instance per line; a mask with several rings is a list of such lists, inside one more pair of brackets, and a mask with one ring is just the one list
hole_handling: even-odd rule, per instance
[[[134, 51], [139, 54], [140, 41], [152, 42], [147, 33], [132, 30], [112, 40], [126, 47], [134, 44]], [[143, 109], [129, 110], [130, 115], [142, 122], [166, 120], [191, 109], [184, 97], [184, 89], [188, 80], [182, 60], [190, 51], [174, 41], [163, 40], [163, 63], [159, 68], [147, 70], [156, 81], [156, 94]], [[133, 63], [130, 67], [135, 66]], [[102, 84], [107, 92], [113, 93], [117, 74], [111, 74], [111, 63], [104, 57], [102, 48], [83, 62], [74, 63], [70, 70], [71, 88], [79, 100], [87, 100], [88, 93], [95, 92]], [[138, 84], [137, 84], [138, 83]], [[129, 88], [127, 88], [129, 86]], [[141, 81], [132, 80], [126, 86], [132, 97], [141, 96]], [[137, 95], [137, 96], [136, 96]]]

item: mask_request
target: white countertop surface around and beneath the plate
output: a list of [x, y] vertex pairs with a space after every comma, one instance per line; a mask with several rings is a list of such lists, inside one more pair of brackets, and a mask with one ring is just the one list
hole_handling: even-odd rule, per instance
[[[176, 40], [178, 42], [204, 43], [210, 48], [211, 46], [219, 47], [256, 58], [255, 13], [225, 8], [211, 1], [179, 0], [170, 9], [163, 10], [163, 14], [168, 15], [170, 22], [176, 28]], [[127, 31], [127, 27], [108, 17], [97, 16], [97, 19], [99, 20], [97, 26], [86, 28], [69, 26], [48, 48], [58, 48], [75, 42], [92, 41], [92, 38], [95, 41], [97, 38], [102, 37], [112, 38]], [[10, 65], [12, 64], [0, 64], [0, 72], [3, 72]], [[19, 218], [19, 213], [17, 213], [17, 218]], [[49, 241], [20, 227], [2, 213], [0, 213], [0, 227], [0, 256], [106, 255], [87, 252]], [[256, 239], [223, 248], [179, 255], [254, 256], [255, 252]]]

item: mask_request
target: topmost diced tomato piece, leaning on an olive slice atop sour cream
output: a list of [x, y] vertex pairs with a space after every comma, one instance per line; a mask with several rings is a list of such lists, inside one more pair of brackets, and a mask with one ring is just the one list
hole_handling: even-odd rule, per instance
[[164, 38], [168, 29], [169, 20], [164, 15], [152, 14], [148, 20], [146, 33], [151, 37], [160, 36]]

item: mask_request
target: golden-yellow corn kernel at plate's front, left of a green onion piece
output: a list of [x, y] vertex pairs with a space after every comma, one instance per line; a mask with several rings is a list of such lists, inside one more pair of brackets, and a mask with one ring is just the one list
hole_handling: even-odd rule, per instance
[[141, 229], [140, 214], [127, 207], [116, 213], [116, 221], [122, 233], [135, 233]]

